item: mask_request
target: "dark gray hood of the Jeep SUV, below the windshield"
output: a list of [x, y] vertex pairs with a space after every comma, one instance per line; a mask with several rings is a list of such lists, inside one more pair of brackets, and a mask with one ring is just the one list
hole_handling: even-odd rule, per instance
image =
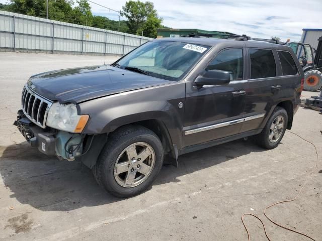
[[47, 99], [60, 103], [79, 103], [98, 97], [172, 82], [109, 65], [102, 65], [33, 75], [28, 80], [27, 85]]

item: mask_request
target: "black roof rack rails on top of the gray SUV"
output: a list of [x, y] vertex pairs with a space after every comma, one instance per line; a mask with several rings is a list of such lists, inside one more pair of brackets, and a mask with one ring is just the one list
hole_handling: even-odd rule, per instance
[[262, 42], [268, 42], [271, 44], [281, 44], [285, 45], [285, 43], [276, 40], [276, 39], [258, 39], [258, 38], [251, 38], [250, 36], [247, 36], [246, 34], [243, 35], [237, 35], [237, 34], [185, 34], [181, 35], [180, 37], [186, 37], [186, 38], [213, 38], [214, 36], [218, 37], [219, 39], [235, 39], [237, 41], [248, 41], [248, 40], [254, 40], [254, 41], [262, 41]]

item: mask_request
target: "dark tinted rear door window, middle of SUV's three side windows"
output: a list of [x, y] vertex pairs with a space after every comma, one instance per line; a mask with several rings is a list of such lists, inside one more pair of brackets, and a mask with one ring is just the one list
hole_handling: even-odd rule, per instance
[[272, 50], [250, 49], [251, 79], [276, 76], [276, 65]]

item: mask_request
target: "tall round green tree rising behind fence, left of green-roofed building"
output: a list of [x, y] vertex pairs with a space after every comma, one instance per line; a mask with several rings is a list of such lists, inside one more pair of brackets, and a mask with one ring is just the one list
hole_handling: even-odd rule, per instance
[[[132, 34], [139, 34], [141, 30], [143, 34], [144, 30], [149, 34], [154, 33], [155, 26], [160, 26], [162, 23], [162, 19], [157, 18], [156, 10], [151, 2], [128, 1], [122, 10], [122, 16], [127, 18], [129, 32]], [[145, 26], [147, 22], [148, 25]]]

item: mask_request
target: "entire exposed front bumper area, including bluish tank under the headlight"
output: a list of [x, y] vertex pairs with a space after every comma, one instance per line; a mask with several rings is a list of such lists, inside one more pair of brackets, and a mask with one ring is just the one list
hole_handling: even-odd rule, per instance
[[82, 155], [83, 144], [87, 139], [86, 135], [58, 131], [48, 127], [43, 129], [32, 123], [22, 110], [18, 111], [14, 125], [32, 147], [37, 147], [40, 152], [48, 156], [57, 156], [59, 159], [68, 161], [73, 161], [75, 157]]

